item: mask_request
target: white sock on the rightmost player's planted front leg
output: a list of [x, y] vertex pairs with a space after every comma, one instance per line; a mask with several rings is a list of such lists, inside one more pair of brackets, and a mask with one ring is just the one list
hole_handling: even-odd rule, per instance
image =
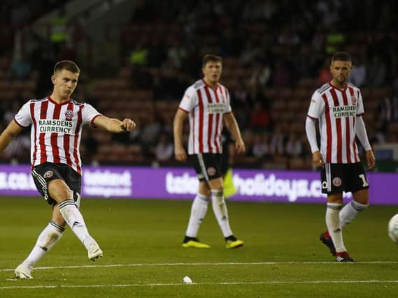
[[327, 230], [329, 230], [330, 237], [332, 237], [332, 241], [337, 253], [340, 253], [341, 251], [347, 251], [346, 246], [344, 246], [343, 243], [343, 234], [341, 233], [339, 216], [340, 209], [341, 204], [339, 203], [327, 203], [326, 225]]

